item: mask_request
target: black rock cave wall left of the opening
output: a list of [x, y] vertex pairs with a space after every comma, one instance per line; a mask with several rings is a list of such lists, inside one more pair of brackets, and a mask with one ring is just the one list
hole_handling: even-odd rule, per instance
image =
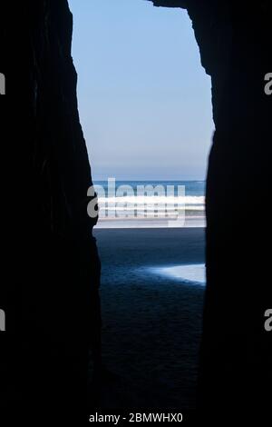
[[99, 325], [100, 262], [87, 215], [92, 176], [77, 108], [73, 16], [66, 0], [28, 0], [3, 2], [1, 17], [7, 271], [0, 405], [47, 408], [48, 417], [53, 408], [62, 416], [70, 408], [69, 417], [77, 409], [79, 422]]

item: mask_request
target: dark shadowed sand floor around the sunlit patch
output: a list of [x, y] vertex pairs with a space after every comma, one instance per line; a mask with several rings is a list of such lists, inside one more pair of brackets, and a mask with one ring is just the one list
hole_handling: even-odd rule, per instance
[[204, 230], [94, 232], [102, 259], [100, 408], [194, 408], [204, 287], [152, 267], [204, 263]]

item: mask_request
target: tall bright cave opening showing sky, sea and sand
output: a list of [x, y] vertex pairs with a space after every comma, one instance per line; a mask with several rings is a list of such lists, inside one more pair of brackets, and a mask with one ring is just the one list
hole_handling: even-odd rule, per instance
[[128, 387], [124, 378], [134, 384], [122, 404], [174, 407], [181, 399], [192, 408], [214, 127], [210, 78], [185, 10], [122, 0], [69, 4], [79, 112], [101, 207], [94, 235], [103, 360], [121, 378], [118, 395]]

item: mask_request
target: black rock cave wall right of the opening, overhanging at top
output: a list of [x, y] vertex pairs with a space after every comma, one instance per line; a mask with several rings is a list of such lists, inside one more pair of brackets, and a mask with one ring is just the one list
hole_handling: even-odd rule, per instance
[[215, 134], [207, 178], [207, 292], [199, 407], [229, 413], [269, 406], [271, 2], [156, 0], [187, 8], [211, 76]]

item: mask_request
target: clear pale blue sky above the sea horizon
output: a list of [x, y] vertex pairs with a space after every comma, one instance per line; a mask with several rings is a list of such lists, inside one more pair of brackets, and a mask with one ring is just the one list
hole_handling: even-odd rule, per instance
[[92, 178], [202, 180], [210, 77], [186, 11], [145, 0], [69, 0]]

